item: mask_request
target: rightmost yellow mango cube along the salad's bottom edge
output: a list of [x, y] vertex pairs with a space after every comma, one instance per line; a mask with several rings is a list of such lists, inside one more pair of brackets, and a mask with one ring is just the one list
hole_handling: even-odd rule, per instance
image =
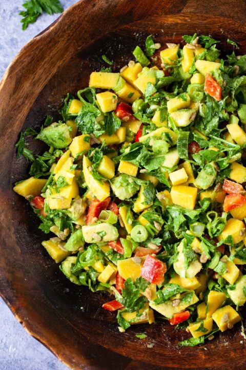
[[219, 327], [220, 331], [225, 331], [229, 327], [231, 328], [234, 324], [241, 321], [239, 313], [229, 305], [217, 309], [213, 313], [212, 318]]

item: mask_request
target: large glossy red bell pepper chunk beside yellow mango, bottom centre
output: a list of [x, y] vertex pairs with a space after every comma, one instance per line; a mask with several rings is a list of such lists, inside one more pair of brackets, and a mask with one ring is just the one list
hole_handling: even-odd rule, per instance
[[144, 265], [141, 268], [141, 276], [154, 284], [161, 284], [164, 281], [164, 274], [167, 272], [167, 265], [152, 255], [147, 255]]

